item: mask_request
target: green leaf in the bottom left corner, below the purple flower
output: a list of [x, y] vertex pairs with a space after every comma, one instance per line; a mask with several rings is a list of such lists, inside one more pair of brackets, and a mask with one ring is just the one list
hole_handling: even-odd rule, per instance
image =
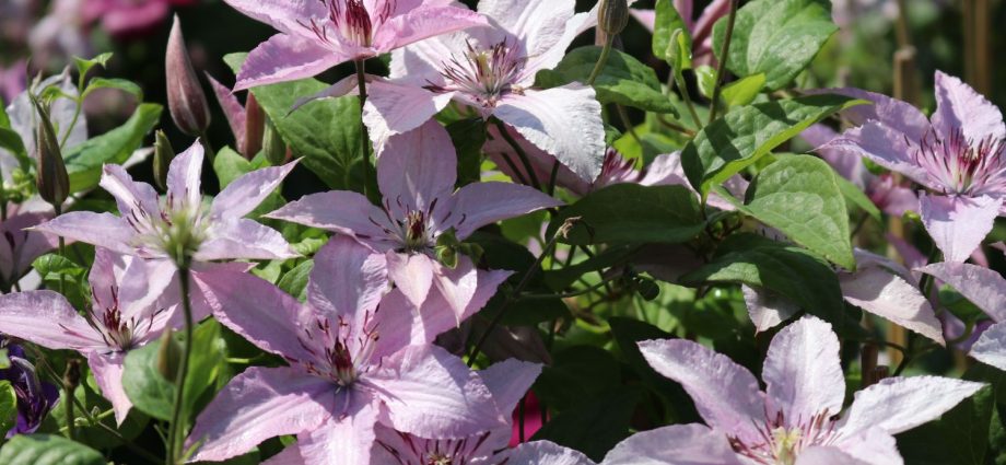
[[4, 465], [105, 465], [102, 454], [58, 435], [16, 435], [0, 449]]

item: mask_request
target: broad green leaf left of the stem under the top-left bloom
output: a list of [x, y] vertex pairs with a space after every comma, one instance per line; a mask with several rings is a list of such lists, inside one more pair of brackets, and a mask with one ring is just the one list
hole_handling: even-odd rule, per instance
[[[236, 73], [247, 54], [231, 54], [224, 61]], [[317, 94], [328, 84], [315, 79], [262, 85], [252, 90], [258, 104], [290, 147], [294, 158], [304, 158], [332, 189], [362, 190], [363, 162], [360, 156], [360, 103], [355, 96], [323, 98], [290, 113], [297, 98]]]

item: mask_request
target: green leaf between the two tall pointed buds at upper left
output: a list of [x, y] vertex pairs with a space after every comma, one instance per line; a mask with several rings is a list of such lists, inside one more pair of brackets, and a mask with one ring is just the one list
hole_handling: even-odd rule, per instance
[[157, 125], [162, 109], [157, 104], [141, 104], [122, 126], [70, 148], [63, 154], [70, 174], [70, 191], [97, 186], [102, 165], [126, 163], [143, 144], [143, 137]]

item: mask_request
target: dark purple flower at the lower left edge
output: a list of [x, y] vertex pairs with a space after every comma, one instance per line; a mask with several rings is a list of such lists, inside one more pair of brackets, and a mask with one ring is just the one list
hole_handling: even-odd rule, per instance
[[7, 349], [10, 368], [0, 370], [0, 380], [9, 381], [17, 398], [17, 420], [10, 431], [0, 431], [10, 439], [14, 434], [31, 434], [42, 426], [42, 420], [59, 400], [59, 388], [38, 379], [35, 365], [27, 360], [24, 349], [0, 336], [0, 349]]

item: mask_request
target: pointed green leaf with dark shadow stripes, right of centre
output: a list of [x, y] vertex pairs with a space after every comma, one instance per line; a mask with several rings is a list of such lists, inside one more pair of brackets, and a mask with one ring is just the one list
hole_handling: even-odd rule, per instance
[[840, 95], [810, 95], [737, 108], [695, 135], [681, 152], [681, 165], [703, 196], [810, 125], [866, 103]]

